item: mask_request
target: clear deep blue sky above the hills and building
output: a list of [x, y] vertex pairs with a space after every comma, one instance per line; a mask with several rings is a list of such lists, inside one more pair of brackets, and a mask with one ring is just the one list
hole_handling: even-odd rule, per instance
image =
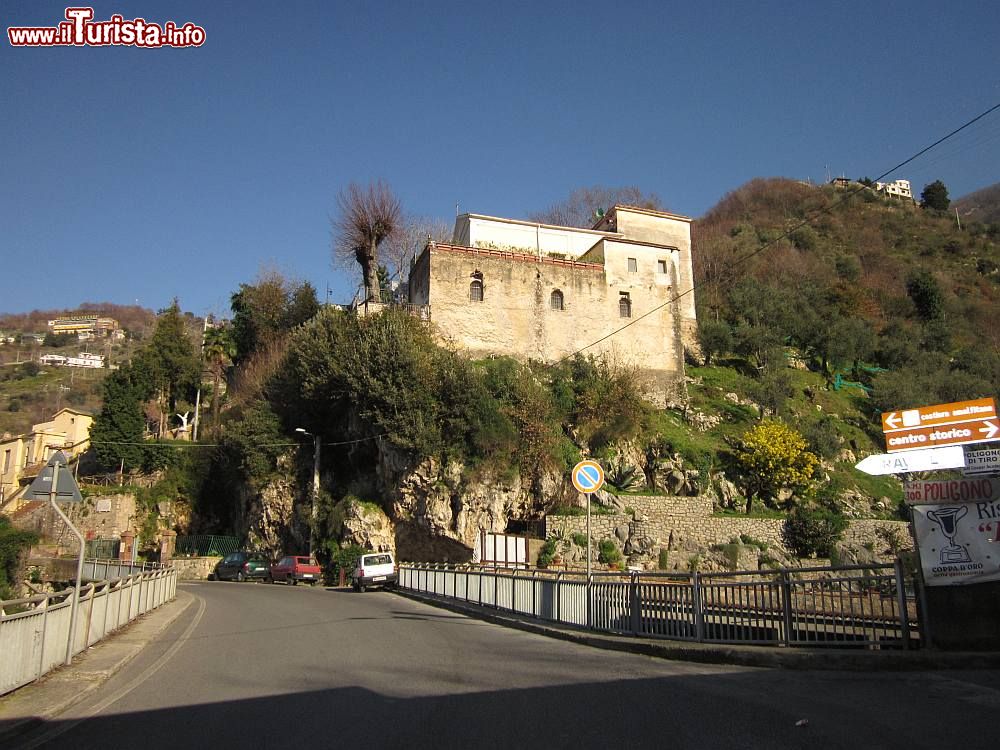
[[[8, 0], [0, 19], [65, 7]], [[993, 0], [93, 7], [207, 39], [3, 40], [0, 312], [226, 313], [262, 268], [348, 301], [330, 217], [351, 181], [448, 222], [594, 184], [697, 217], [754, 177], [874, 177], [1000, 102]], [[1000, 181], [1000, 111], [895, 177], [952, 197]]]

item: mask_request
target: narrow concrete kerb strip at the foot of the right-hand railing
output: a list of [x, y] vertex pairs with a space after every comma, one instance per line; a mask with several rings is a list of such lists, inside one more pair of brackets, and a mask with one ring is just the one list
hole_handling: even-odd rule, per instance
[[786, 648], [636, 638], [598, 633], [503, 610], [426, 596], [400, 588], [396, 588], [395, 591], [400, 596], [497, 625], [517, 628], [549, 638], [572, 641], [594, 648], [645, 654], [675, 661], [735, 664], [767, 669], [820, 669], [848, 672], [1000, 669], [1000, 652], [958, 652], [933, 649], [879, 651], [851, 648], [799, 648], [797, 646]]

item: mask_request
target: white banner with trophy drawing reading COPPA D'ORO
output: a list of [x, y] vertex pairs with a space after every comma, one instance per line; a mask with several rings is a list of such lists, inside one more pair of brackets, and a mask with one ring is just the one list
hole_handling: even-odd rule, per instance
[[[979, 482], [990, 484], [991, 480]], [[910, 485], [956, 485], [962, 482], [908, 482]], [[968, 489], [968, 488], [967, 488]], [[982, 487], [979, 489], [983, 489]], [[992, 490], [1000, 490], [994, 486]], [[917, 492], [917, 490], [912, 490]], [[933, 494], [960, 495], [957, 487], [927, 488]], [[910, 500], [907, 489], [907, 500]], [[1000, 496], [976, 502], [914, 505], [913, 530], [928, 586], [1000, 581]]]

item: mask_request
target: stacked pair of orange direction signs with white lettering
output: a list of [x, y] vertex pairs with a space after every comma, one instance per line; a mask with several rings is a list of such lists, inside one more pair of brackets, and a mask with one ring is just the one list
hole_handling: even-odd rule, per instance
[[1000, 420], [993, 399], [978, 398], [884, 412], [882, 431], [891, 453], [1000, 440]]

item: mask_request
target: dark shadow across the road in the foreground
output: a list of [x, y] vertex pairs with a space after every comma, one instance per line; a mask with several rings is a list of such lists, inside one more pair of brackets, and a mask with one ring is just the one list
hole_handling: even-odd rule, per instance
[[[430, 670], [433, 665], [429, 665]], [[413, 676], [410, 676], [413, 678]], [[197, 677], [192, 675], [192, 679]], [[400, 675], [399, 692], [423, 685]], [[788, 673], [733, 672], [609, 679], [394, 697], [362, 687], [96, 716], [35, 725], [32, 747], [164, 748], [820, 748], [983, 747], [992, 714], [945, 701], [940, 721], [919, 685], [827, 675], [806, 687]], [[440, 689], [440, 685], [437, 685]], [[433, 692], [430, 688], [427, 692]], [[917, 704], [917, 705], [914, 705]], [[907, 709], [907, 706], [909, 710]], [[900, 713], [903, 709], [905, 713]], [[802, 719], [807, 719], [802, 724]], [[0, 734], [5, 729], [0, 722]], [[13, 747], [18, 747], [15, 741]]]

